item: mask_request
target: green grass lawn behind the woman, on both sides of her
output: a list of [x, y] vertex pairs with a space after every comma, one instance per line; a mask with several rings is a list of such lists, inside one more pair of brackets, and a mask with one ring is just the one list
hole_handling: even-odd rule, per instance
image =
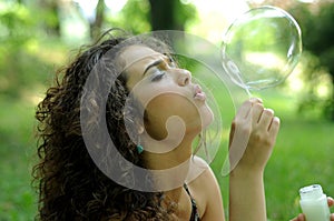
[[[48, 54], [48, 51], [43, 50], [43, 53]], [[55, 57], [58, 58], [60, 54], [61, 51], [58, 50]], [[49, 82], [48, 72], [52, 72], [53, 67], [50, 63], [41, 67], [33, 67], [27, 61], [24, 63], [29, 63], [28, 68], [21, 67], [20, 70], [27, 72], [24, 78], [30, 74], [29, 84], [13, 87], [22, 88], [19, 96], [0, 96], [1, 221], [33, 220], [37, 211], [37, 197], [30, 185], [31, 167], [36, 162], [35, 100], [43, 91], [43, 84]], [[41, 70], [43, 74], [33, 74]], [[217, 96], [217, 104], [222, 109], [226, 143], [228, 127], [234, 114], [233, 102], [227, 99], [226, 93], [222, 92], [222, 90], [226, 92], [222, 84], [213, 84], [208, 88]], [[277, 144], [265, 172], [265, 188], [268, 219], [285, 221], [299, 212], [297, 201], [301, 187], [320, 183], [328, 195], [334, 195], [334, 123], [299, 115], [296, 112], [296, 98], [284, 89], [266, 90], [258, 96], [282, 120]], [[247, 97], [243, 96], [243, 98]], [[213, 162], [213, 169], [220, 183], [224, 204], [227, 208], [228, 177], [220, 175], [225, 154], [226, 151], [222, 149]]]

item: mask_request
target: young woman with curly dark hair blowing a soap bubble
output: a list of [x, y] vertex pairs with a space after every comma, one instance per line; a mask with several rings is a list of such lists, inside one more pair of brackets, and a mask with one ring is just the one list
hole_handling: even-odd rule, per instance
[[[38, 106], [38, 219], [225, 220], [216, 178], [191, 153], [214, 119], [205, 92], [161, 42], [114, 32]], [[246, 150], [230, 172], [229, 220], [266, 220], [263, 172], [278, 128], [259, 99], [237, 111], [229, 148]]]

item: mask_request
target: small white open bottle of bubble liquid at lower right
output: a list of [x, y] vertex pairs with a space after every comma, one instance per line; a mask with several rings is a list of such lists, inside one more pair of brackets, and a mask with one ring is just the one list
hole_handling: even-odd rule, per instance
[[330, 221], [327, 197], [320, 184], [304, 187], [299, 190], [301, 208], [306, 221]]

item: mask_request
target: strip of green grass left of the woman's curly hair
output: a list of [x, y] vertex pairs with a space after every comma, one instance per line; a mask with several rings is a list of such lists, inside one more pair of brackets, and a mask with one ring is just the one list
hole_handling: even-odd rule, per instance
[[33, 220], [31, 189], [33, 108], [0, 98], [0, 220]]

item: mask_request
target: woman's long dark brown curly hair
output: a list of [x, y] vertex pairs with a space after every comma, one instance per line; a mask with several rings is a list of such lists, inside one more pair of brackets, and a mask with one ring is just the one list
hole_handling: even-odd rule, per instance
[[[108, 84], [110, 88], [105, 107], [100, 106], [101, 98], [97, 91], [85, 91], [86, 80], [91, 72], [99, 76], [99, 81], [104, 81], [106, 74], [104, 71], [94, 71], [96, 64], [109, 50], [122, 50], [118, 46], [130, 37], [122, 31], [119, 31], [121, 34], [117, 33], [117, 30], [109, 30], [97, 43], [81, 48], [75, 61], [57, 73], [55, 84], [47, 90], [45, 99], [37, 107], [40, 162], [32, 171], [33, 183], [39, 192], [37, 220], [171, 219], [173, 207], [168, 207], [170, 203], [166, 205], [164, 192], [132, 190], [112, 181], [92, 161], [82, 138], [82, 112], [92, 113], [88, 121], [91, 131], [105, 118], [110, 138], [119, 152], [128, 161], [145, 168], [145, 161], [125, 127], [124, 112], [129, 91], [127, 79], [118, 74], [117, 58], [109, 56], [106, 60], [108, 62], [105, 62], [105, 73], [117, 78], [115, 83]], [[85, 94], [89, 94], [87, 98], [90, 103], [82, 108], [80, 100]], [[136, 110], [127, 111], [130, 112], [128, 121], [134, 123], [131, 112]], [[96, 138], [100, 139], [99, 134]], [[108, 151], [108, 147], [104, 148], [104, 151]], [[106, 159], [115, 161], [112, 155]]]

